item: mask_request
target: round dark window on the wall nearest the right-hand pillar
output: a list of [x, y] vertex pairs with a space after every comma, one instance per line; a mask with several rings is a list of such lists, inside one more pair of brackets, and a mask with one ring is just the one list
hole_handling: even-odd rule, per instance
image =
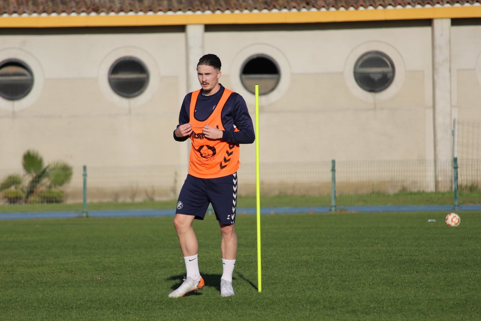
[[361, 55], [354, 64], [354, 79], [367, 92], [379, 93], [394, 80], [394, 64], [380, 51]]

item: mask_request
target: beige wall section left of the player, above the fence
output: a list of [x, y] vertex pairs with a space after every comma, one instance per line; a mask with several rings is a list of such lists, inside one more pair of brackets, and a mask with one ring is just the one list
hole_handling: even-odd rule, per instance
[[[0, 101], [3, 168], [17, 168], [28, 148], [73, 166], [178, 164], [180, 144], [170, 138], [186, 93], [182, 32], [0, 39], [0, 58], [27, 53], [39, 66], [36, 83], [42, 81], [29, 104]], [[149, 69], [140, 98], [122, 98], [108, 85], [106, 70], [124, 55], [139, 57]]]

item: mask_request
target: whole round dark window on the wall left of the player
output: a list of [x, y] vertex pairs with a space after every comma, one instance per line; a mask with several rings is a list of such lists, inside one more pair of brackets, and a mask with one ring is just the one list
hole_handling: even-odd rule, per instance
[[109, 84], [122, 97], [132, 98], [142, 94], [149, 84], [147, 67], [135, 57], [122, 57], [109, 69]]

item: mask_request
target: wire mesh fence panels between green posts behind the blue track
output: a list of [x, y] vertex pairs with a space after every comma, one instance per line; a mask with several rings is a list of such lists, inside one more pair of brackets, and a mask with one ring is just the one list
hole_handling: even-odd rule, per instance
[[[331, 161], [261, 163], [261, 206], [329, 207]], [[0, 170], [0, 184], [21, 170]], [[91, 208], [173, 207], [185, 179], [178, 166], [89, 167], [87, 203]], [[82, 167], [74, 167], [70, 183], [50, 189], [40, 182], [26, 199], [32, 177], [0, 191], [0, 213], [78, 211], [84, 206]], [[481, 160], [458, 161], [459, 204], [481, 204]], [[453, 205], [453, 161], [338, 161], [336, 205]], [[164, 202], [164, 203], [163, 203]], [[101, 204], [101, 205], [99, 205]], [[167, 205], [166, 205], [167, 204]], [[255, 207], [255, 164], [239, 170], [239, 207]]]

